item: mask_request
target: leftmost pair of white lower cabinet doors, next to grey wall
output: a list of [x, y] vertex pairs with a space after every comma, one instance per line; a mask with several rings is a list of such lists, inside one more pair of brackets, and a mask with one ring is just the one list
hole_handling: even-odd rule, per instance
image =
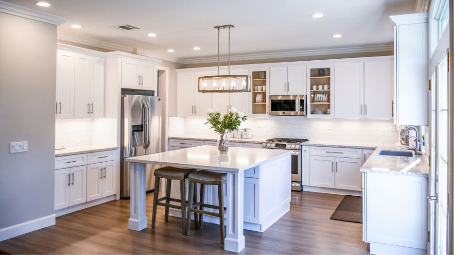
[[54, 209], [87, 202], [87, 166], [55, 171]]

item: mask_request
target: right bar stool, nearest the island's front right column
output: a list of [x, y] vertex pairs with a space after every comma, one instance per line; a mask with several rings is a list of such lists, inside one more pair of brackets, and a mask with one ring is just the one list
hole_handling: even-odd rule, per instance
[[[203, 215], [211, 215], [214, 217], [219, 217], [219, 225], [221, 228], [221, 243], [224, 244], [224, 214], [226, 213], [226, 208], [224, 207], [224, 191], [222, 189], [222, 185], [227, 183], [227, 173], [217, 173], [217, 172], [210, 172], [207, 170], [200, 170], [196, 172], [192, 172], [189, 174], [189, 197], [196, 195], [196, 184], [200, 184], [200, 201], [198, 203], [193, 203], [193, 201], [189, 200], [188, 205], [188, 219], [187, 219], [187, 227], [186, 227], [186, 236], [189, 236], [189, 230], [191, 227], [191, 212], [194, 213], [194, 219], [196, 219], [196, 213], [200, 214], [199, 222], [197, 226], [197, 221], [195, 220], [195, 227], [202, 229], [202, 221]], [[205, 185], [217, 185], [218, 187], [218, 196], [219, 196], [219, 206], [212, 205], [212, 204], [205, 204], [204, 203], [204, 195], [205, 195]], [[195, 202], [196, 199], [194, 199]], [[199, 208], [197, 209], [196, 207]], [[219, 210], [218, 213], [205, 211], [203, 208], [212, 208]]]

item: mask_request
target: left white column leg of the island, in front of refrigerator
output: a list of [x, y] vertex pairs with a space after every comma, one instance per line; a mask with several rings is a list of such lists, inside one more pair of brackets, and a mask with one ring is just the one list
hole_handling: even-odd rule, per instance
[[140, 231], [148, 226], [145, 201], [145, 164], [131, 162], [130, 171], [131, 199], [129, 203], [131, 207], [128, 228]]

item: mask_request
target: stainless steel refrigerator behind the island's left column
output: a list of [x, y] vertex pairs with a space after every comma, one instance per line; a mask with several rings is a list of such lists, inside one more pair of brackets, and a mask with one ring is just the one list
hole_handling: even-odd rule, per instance
[[[161, 151], [161, 99], [154, 91], [122, 89], [120, 194], [130, 196], [130, 172], [127, 157]], [[146, 165], [146, 190], [155, 188], [154, 171], [158, 165]]]

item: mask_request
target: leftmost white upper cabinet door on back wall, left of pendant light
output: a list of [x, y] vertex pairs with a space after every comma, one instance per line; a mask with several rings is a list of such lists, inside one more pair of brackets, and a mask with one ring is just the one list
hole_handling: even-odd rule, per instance
[[194, 72], [176, 74], [177, 116], [187, 117], [194, 114]]

